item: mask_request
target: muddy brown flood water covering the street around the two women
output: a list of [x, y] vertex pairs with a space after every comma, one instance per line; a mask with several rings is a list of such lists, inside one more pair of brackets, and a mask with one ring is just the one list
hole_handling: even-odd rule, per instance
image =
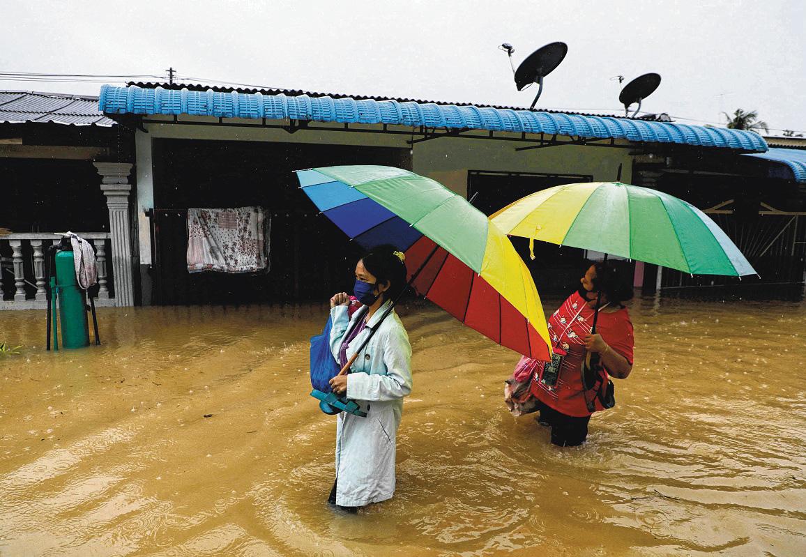
[[803, 302], [637, 298], [633, 374], [565, 449], [506, 411], [518, 355], [401, 314], [397, 493], [357, 515], [308, 396], [324, 306], [102, 309], [56, 353], [0, 314], [0, 555], [806, 555]]

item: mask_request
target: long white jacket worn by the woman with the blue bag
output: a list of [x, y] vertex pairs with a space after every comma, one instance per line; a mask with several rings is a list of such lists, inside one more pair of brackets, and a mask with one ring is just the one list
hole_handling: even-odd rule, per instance
[[[357, 402], [366, 418], [339, 414], [336, 422], [336, 503], [361, 506], [385, 501], [395, 491], [397, 427], [403, 414], [403, 397], [411, 392], [411, 344], [393, 311], [378, 325], [391, 304], [372, 315], [366, 328], [347, 347], [347, 360], [377, 327], [347, 376], [347, 398]], [[347, 319], [347, 306], [330, 310], [330, 351], [338, 360], [342, 340], [352, 325], [364, 318], [362, 307]]]

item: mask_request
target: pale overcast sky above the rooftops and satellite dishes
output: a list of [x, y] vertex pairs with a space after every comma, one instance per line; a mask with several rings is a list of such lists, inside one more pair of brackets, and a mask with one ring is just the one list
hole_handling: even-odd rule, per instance
[[[535, 89], [515, 89], [498, 45], [515, 46], [517, 65], [555, 40], [568, 55], [538, 108], [624, 114], [612, 78], [657, 72], [644, 111], [721, 123], [723, 110], [758, 110], [772, 134], [806, 135], [802, 0], [5, 0], [0, 72], [164, 77], [172, 66], [188, 82], [529, 106]], [[100, 82], [0, 89], [98, 94]]]

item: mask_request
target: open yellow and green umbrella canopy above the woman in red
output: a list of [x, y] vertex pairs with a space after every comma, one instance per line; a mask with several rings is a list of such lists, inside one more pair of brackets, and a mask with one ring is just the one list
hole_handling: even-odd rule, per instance
[[490, 220], [508, 235], [601, 251], [691, 274], [756, 274], [708, 215], [668, 193], [637, 185], [558, 185], [522, 197]]

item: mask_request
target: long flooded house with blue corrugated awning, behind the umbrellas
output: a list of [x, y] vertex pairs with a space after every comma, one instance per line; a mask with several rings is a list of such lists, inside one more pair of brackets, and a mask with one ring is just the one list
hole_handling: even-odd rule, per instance
[[[131, 157], [118, 157], [118, 174], [105, 180], [131, 189], [130, 221], [121, 226], [133, 231], [135, 303], [323, 300], [343, 289], [359, 252], [317, 214], [293, 173], [331, 164], [409, 168], [487, 213], [552, 185], [620, 175], [712, 214], [759, 271], [754, 281], [804, 281], [803, 152], [785, 148], [772, 158], [765, 139], [749, 131], [659, 117], [155, 83], [104, 85], [98, 110], [133, 135]], [[125, 177], [127, 164], [134, 170]], [[254, 205], [272, 218], [271, 270], [189, 274], [187, 210]], [[536, 255], [535, 282], [550, 289], [575, 280], [586, 254], [543, 245]], [[642, 264], [635, 273], [648, 289], [736, 281]]]

